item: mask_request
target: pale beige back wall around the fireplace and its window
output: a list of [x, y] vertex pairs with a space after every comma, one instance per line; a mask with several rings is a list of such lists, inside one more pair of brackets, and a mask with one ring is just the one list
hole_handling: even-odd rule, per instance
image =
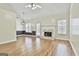
[[[40, 23], [41, 24], [41, 35], [43, 35], [42, 29], [48, 28], [48, 31], [53, 32], [54, 38], [69, 39], [69, 15], [70, 15], [69, 12], [70, 10], [61, 15], [54, 15], [54, 16], [49, 15], [49, 16], [43, 16], [43, 17], [39, 17], [35, 19], [26, 20], [26, 23], [33, 24], [32, 30], [35, 30], [35, 24]], [[62, 20], [62, 19], [67, 20], [67, 29], [66, 29], [67, 34], [66, 35], [61, 35], [57, 33], [57, 21]], [[43, 30], [43, 31], [46, 31], [46, 30]]]

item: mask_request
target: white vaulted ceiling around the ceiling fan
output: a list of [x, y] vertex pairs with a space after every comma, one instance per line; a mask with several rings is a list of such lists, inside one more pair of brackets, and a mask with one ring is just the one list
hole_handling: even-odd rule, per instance
[[24, 11], [24, 18], [26, 19], [49, 15], [61, 15], [69, 11], [70, 8], [70, 4], [68, 3], [40, 3], [39, 5], [41, 5], [42, 8], [36, 10], [31, 10], [29, 8], [25, 9], [25, 3], [13, 3], [11, 5], [15, 8], [17, 14], [21, 14]]

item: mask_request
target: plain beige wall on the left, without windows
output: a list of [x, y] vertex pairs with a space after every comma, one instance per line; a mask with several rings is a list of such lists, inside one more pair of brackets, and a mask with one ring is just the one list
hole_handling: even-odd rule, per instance
[[0, 4], [0, 44], [16, 40], [16, 16], [12, 7]]

